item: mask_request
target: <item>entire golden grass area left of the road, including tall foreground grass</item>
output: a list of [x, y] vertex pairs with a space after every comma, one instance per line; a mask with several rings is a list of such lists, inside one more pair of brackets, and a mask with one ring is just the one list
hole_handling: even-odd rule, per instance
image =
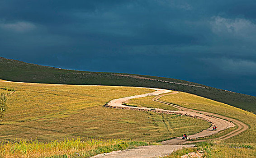
[[[15, 93], [10, 94], [13, 91], [6, 87]], [[9, 93], [7, 110], [0, 121], [0, 158], [76, 158], [76, 153], [84, 158], [209, 128], [209, 122], [189, 116], [103, 107], [115, 98], [153, 91], [0, 82], [0, 92]]]

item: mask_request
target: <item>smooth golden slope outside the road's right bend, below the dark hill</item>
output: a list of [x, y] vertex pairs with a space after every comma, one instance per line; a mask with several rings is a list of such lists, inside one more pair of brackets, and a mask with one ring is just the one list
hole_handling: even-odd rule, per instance
[[218, 113], [223, 116], [228, 116], [240, 120], [249, 125], [250, 128], [240, 135], [224, 140], [224, 142], [256, 143], [256, 137], [251, 136], [256, 135], [256, 115], [251, 112], [247, 112], [242, 109], [232, 107], [221, 102], [216, 102], [207, 98], [183, 92], [164, 96], [160, 98], [160, 100], [164, 102], [177, 104], [182, 107], [187, 107], [190, 109], [196, 109], [205, 112]]

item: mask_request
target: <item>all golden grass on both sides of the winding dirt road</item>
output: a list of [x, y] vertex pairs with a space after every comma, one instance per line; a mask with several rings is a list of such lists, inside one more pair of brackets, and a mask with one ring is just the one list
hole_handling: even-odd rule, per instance
[[[103, 107], [115, 98], [153, 91], [146, 88], [7, 82], [0, 82], [0, 88], [14, 88], [16, 91], [7, 96], [7, 111], [0, 122], [0, 157], [5, 158], [36, 158], [42, 155], [71, 157], [76, 153], [88, 157], [147, 144], [133, 141], [158, 142], [184, 132], [191, 135], [210, 126], [206, 121], [188, 116]], [[9, 92], [0, 89], [0, 93]], [[153, 102], [152, 98], [136, 98], [127, 104], [176, 110]], [[197, 147], [204, 151], [205, 157], [256, 157], [256, 115], [251, 112], [182, 92], [160, 100], [236, 118], [250, 126], [249, 130], [231, 139]], [[196, 149], [179, 150], [170, 158], [178, 158]]]

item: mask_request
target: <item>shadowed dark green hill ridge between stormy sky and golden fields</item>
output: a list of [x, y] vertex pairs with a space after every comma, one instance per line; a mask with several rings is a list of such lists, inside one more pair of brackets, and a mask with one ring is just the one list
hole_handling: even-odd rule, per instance
[[63, 70], [0, 57], [0, 79], [49, 84], [89, 84], [165, 88], [196, 94], [256, 113], [256, 97], [180, 79], [156, 76]]

